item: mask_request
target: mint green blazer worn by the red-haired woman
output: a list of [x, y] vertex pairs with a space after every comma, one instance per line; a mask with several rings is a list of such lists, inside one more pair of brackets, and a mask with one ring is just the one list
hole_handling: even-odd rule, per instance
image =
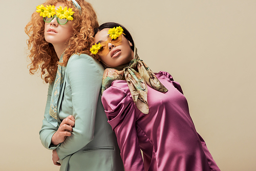
[[115, 133], [107, 122], [100, 89], [104, 68], [86, 54], [68, 61], [57, 104], [58, 126], [69, 115], [75, 118], [72, 136], [57, 146], [51, 139], [58, 127], [47, 121], [54, 83], [49, 84], [44, 120], [39, 132], [42, 145], [56, 149], [60, 170], [121, 171], [123, 163]]

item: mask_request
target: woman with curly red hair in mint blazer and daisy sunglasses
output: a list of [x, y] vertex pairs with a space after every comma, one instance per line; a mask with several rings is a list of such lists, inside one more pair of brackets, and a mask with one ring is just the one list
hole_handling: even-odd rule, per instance
[[103, 67], [89, 56], [97, 16], [83, 0], [49, 0], [25, 27], [30, 73], [49, 83], [41, 143], [60, 170], [123, 170], [99, 98]]

